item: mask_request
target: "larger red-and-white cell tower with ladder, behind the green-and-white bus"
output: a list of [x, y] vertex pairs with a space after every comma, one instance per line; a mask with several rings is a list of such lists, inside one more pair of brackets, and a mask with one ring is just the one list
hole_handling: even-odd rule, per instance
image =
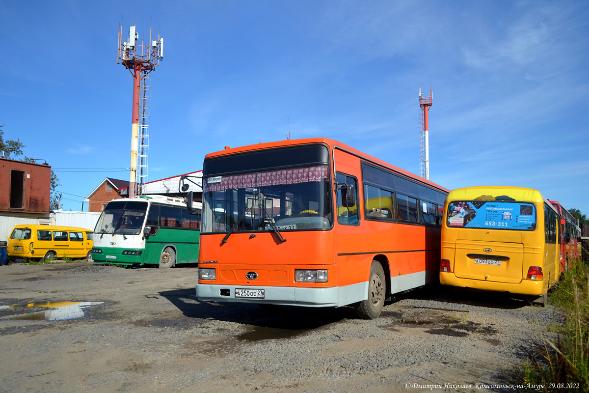
[[129, 197], [143, 193], [147, 183], [147, 156], [149, 147], [150, 72], [164, 58], [164, 39], [138, 44], [135, 26], [129, 28], [129, 39], [123, 40], [123, 27], [118, 33], [117, 64], [123, 64], [133, 75], [133, 117], [131, 118], [131, 167], [129, 170]]

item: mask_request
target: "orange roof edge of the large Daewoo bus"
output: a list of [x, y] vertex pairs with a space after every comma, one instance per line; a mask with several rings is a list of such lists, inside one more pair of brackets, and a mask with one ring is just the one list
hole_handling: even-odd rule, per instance
[[297, 146], [297, 145], [304, 145], [304, 144], [313, 144], [313, 143], [322, 143], [329, 147], [330, 152], [333, 149], [337, 148], [339, 150], [347, 151], [350, 154], [353, 154], [357, 157], [363, 158], [365, 160], [371, 161], [374, 164], [379, 166], [385, 167], [387, 169], [396, 171], [400, 174], [403, 174], [407, 177], [411, 177], [411, 179], [419, 181], [424, 184], [429, 184], [429, 186], [435, 187], [436, 189], [445, 191], [448, 193], [450, 190], [446, 189], [445, 187], [440, 186], [439, 184], [434, 183], [433, 181], [423, 179], [423, 177], [416, 175], [415, 173], [411, 173], [399, 167], [396, 167], [392, 164], [389, 164], [379, 158], [370, 156], [369, 154], [363, 153], [360, 150], [357, 150], [351, 146], [348, 146], [344, 143], [339, 141], [330, 139], [330, 138], [305, 138], [305, 139], [287, 139], [282, 141], [275, 141], [275, 142], [266, 142], [266, 143], [258, 143], [249, 146], [240, 146], [240, 147], [233, 147], [230, 148], [227, 146], [225, 150], [215, 151], [214, 153], [209, 153], [204, 157], [204, 160], [213, 157], [220, 157], [226, 156], [229, 154], [239, 154], [239, 153], [246, 153], [248, 151], [255, 151], [255, 150], [266, 150], [270, 148], [279, 148], [279, 147], [288, 147], [288, 146]]

